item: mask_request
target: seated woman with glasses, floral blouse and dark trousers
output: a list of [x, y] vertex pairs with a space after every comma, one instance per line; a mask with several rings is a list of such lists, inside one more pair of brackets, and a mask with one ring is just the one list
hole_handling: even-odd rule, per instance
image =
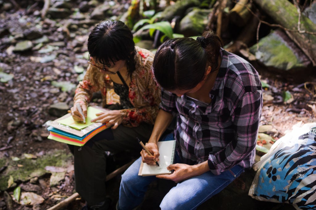
[[[120, 104], [111, 111], [97, 114], [91, 122], [106, 123], [112, 129], [98, 133], [82, 148], [70, 148], [74, 154], [75, 188], [86, 201], [83, 209], [107, 209], [106, 152], [139, 154], [137, 137], [147, 142], [161, 102], [161, 91], [153, 80], [150, 67], [154, 55], [135, 46], [131, 30], [121, 21], [100, 22], [88, 37], [89, 66], [79, 82], [71, 115], [83, 121], [76, 108], [80, 104], [87, 116], [92, 94], [100, 91], [106, 107], [106, 93], [113, 88]], [[112, 107], [112, 108], [111, 108]]]

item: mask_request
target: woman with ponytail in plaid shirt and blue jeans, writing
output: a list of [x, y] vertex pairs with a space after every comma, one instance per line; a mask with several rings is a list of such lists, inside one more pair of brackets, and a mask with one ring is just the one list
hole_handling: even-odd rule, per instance
[[[206, 31], [197, 40], [174, 38], [157, 50], [152, 71], [161, 87], [160, 111], [146, 147], [122, 176], [117, 208], [138, 206], [151, 181], [175, 186], [161, 201], [164, 209], [196, 209], [254, 163], [262, 109], [258, 72], [243, 58], [222, 48]], [[177, 124], [177, 162], [172, 174], [137, 176], [141, 161], [159, 162], [157, 142], [173, 116]], [[133, 184], [137, 183], [137, 184]]]

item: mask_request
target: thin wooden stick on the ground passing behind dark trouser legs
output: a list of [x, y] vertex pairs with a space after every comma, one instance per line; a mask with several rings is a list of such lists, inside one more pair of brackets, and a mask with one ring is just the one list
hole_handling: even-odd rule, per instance
[[[126, 163], [125, 165], [123, 165], [122, 167], [119, 167], [118, 169], [116, 169], [115, 171], [113, 171], [112, 173], [108, 174], [106, 176], [106, 181], [112, 179], [113, 177], [115, 177], [116, 175], [118, 175], [119, 173], [124, 172], [128, 167], [130, 167], [130, 165], [134, 162], [135, 160], [132, 160], [129, 163]], [[74, 201], [76, 198], [78, 198], [80, 195], [76, 192], [74, 194], [72, 194], [71, 196], [69, 196], [68, 198], [66, 198], [63, 201], [60, 201], [58, 204], [56, 204], [55, 206], [50, 207], [47, 210], [58, 210], [61, 209], [63, 207], [68, 206], [68, 204], [70, 204], [72, 201]]]

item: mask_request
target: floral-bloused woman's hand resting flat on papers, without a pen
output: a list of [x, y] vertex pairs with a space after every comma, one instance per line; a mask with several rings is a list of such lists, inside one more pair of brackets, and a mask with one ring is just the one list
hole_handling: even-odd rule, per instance
[[110, 110], [106, 112], [100, 112], [96, 114], [96, 118], [92, 119], [91, 122], [101, 122], [106, 126], [112, 126], [112, 129], [116, 129], [122, 123], [121, 111]]

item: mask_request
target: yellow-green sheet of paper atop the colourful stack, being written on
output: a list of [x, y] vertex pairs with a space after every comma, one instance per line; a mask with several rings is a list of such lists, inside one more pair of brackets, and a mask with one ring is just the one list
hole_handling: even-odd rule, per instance
[[60, 124], [63, 124], [63, 125], [68, 125], [71, 128], [76, 128], [76, 129], [80, 130], [82, 128], [86, 128], [89, 125], [93, 124], [94, 122], [90, 122], [90, 121], [97, 117], [95, 114], [100, 113], [100, 112], [102, 112], [102, 111], [99, 109], [96, 109], [94, 107], [89, 106], [88, 110], [87, 110], [86, 123], [75, 122], [74, 119], [72, 118], [72, 116], [69, 116], [65, 119], [59, 120], [57, 122], [59, 122]]

